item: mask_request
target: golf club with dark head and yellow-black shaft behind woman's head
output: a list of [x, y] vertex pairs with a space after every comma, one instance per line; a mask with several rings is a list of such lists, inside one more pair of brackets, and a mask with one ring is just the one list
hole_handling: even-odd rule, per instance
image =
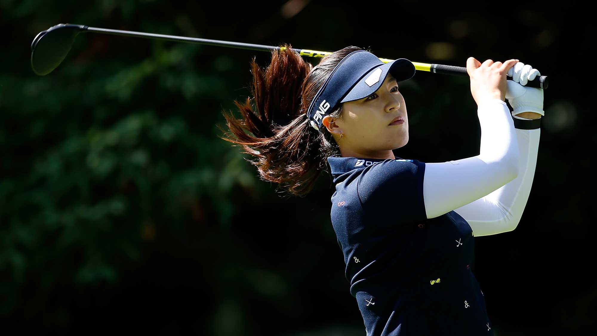
[[[128, 30], [103, 29], [83, 25], [71, 25], [69, 23], [60, 23], [59, 25], [50, 27], [47, 30], [39, 32], [38, 35], [35, 36], [35, 38], [33, 39], [33, 42], [31, 43], [31, 68], [33, 69], [33, 72], [40, 76], [50, 74], [50, 72], [56, 69], [60, 65], [60, 63], [62, 63], [66, 55], [69, 53], [73, 42], [75, 42], [76, 36], [81, 32], [95, 32], [110, 35], [163, 39], [167, 41], [217, 45], [220, 47], [232, 47], [258, 51], [272, 51], [284, 48], [273, 47], [270, 45], [218, 41], [215, 39], [190, 38], [184, 36], [161, 35], [154, 33], [131, 32]], [[293, 50], [299, 53], [301, 56], [307, 57], [324, 57], [327, 54], [332, 53], [331, 51], [316, 51], [296, 48], [293, 48]], [[381, 57], [380, 60], [384, 63], [393, 61], [391, 59], [382, 59]], [[433, 72], [434, 74], [468, 76], [466, 68], [463, 68], [461, 66], [428, 64], [418, 62], [412, 63], [415, 66], [415, 69], [417, 69], [418, 71]], [[546, 89], [548, 84], [549, 83], [547, 81], [547, 76], [539, 76], [532, 81], [528, 81], [526, 86]]]

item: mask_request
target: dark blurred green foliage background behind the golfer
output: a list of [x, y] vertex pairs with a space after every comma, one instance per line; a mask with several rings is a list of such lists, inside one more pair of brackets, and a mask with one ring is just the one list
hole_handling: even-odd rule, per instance
[[[597, 26], [583, 8], [0, 0], [2, 334], [365, 335], [331, 227], [330, 176], [285, 197], [218, 138], [221, 111], [250, 94], [251, 58], [266, 66], [270, 54], [87, 33], [39, 77], [30, 44], [58, 23], [532, 65], [551, 79], [533, 190], [516, 230], [476, 239], [473, 270], [496, 335], [592, 328], [597, 86], [586, 65]], [[478, 155], [467, 77], [417, 72], [401, 91], [410, 142], [396, 156]]]

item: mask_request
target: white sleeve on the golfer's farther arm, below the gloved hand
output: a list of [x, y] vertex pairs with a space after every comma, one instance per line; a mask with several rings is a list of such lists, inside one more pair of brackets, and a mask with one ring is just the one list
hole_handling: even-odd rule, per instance
[[531, 193], [541, 130], [516, 129], [520, 152], [518, 177], [493, 193], [454, 210], [466, 219], [475, 236], [512, 231]]

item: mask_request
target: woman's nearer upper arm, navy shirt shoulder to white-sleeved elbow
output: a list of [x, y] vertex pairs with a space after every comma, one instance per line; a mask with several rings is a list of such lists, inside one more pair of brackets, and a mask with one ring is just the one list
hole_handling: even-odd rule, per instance
[[390, 212], [402, 222], [413, 222], [478, 200], [516, 176], [517, 167], [479, 157], [443, 163], [387, 160], [363, 170], [357, 193], [364, 209]]

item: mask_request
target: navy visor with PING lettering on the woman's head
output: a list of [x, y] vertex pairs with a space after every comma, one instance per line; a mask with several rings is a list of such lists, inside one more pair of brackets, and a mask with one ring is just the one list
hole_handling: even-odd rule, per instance
[[320, 130], [325, 115], [335, 111], [341, 103], [371, 96], [386, 80], [388, 72], [396, 81], [405, 81], [413, 78], [415, 68], [407, 59], [383, 63], [365, 50], [348, 54], [336, 65], [309, 105], [307, 116], [311, 126]]

